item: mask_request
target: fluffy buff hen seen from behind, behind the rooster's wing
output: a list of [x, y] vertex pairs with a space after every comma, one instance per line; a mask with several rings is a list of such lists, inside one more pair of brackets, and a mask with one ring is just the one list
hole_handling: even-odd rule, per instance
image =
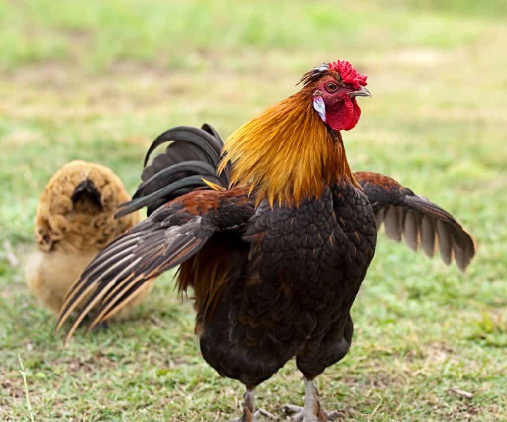
[[93, 257], [139, 222], [139, 212], [114, 218], [117, 206], [129, 199], [118, 176], [98, 164], [72, 161], [49, 180], [35, 214], [38, 250], [28, 257], [26, 282], [55, 314]]

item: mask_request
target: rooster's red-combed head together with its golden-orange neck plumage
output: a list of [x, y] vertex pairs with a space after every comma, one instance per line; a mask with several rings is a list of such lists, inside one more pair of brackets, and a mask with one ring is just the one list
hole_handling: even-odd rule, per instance
[[248, 184], [258, 202], [299, 204], [320, 198], [329, 183], [352, 175], [340, 131], [361, 116], [356, 97], [370, 97], [366, 76], [349, 62], [322, 64], [304, 74], [303, 87], [237, 129], [226, 141], [222, 171], [234, 165], [231, 185]]

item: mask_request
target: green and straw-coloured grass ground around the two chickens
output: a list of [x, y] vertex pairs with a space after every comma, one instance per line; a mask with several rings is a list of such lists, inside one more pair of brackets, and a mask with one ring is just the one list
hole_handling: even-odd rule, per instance
[[[18, 258], [50, 175], [82, 158], [133, 191], [150, 141], [179, 124], [227, 135], [346, 58], [372, 99], [344, 133], [354, 170], [380, 171], [475, 236], [466, 274], [379, 236], [352, 308], [347, 357], [318, 378], [325, 408], [358, 420], [507, 418], [504, 2], [0, 1], [0, 419], [231, 419], [238, 382], [200, 357], [170, 275], [132, 319], [67, 348]], [[298, 6], [298, 7], [296, 7]], [[452, 394], [451, 388], [474, 394]], [[258, 389], [301, 402], [294, 362]]]

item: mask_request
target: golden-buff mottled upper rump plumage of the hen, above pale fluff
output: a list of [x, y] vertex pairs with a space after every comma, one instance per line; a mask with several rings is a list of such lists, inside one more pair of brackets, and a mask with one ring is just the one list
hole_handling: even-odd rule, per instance
[[[73, 201], [78, 185], [90, 181], [99, 193]], [[41, 251], [101, 250], [139, 221], [139, 213], [115, 220], [116, 207], [130, 200], [120, 178], [107, 167], [72, 161], [49, 180], [35, 214], [35, 241]]]

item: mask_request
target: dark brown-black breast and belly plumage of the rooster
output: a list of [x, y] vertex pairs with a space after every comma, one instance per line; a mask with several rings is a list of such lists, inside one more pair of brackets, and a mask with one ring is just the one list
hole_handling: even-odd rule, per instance
[[350, 306], [376, 243], [361, 191], [333, 185], [298, 208], [263, 202], [242, 239], [235, 232], [225, 242], [235, 253], [229, 282], [210, 317], [197, 310], [211, 366], [253, 387], [295, 356], [313, 378], [345, 355]]

